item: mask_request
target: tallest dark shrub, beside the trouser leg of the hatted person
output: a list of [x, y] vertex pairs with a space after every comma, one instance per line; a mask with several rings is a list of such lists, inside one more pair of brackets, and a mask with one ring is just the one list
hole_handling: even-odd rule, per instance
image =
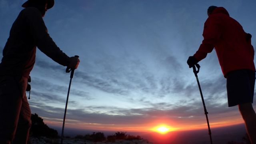
[[45, 136], [49, 138], [58, 138], [57, 130], [49, 128], [44, 124], [43, 119], [38, 114], [31, 114], [32, 126], [30, 128], [30, 136], [40, 137]]

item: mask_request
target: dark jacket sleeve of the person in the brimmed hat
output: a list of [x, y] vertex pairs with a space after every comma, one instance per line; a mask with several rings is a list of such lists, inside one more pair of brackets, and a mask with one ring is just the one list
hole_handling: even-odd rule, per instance
[[37, 8], [26, 8], [25, 18], [30, 34], [39, 50], [63, 66], [68, 66], [70, 58], [58, 48], [48, 34], [42, 15]]

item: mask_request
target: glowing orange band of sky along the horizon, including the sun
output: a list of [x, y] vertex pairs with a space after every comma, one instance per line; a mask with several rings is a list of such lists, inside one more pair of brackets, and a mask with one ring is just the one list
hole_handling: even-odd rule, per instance
[[[44, 122], [50, 126], [62, 126], [62, 119], [42, 117]], [[241, 118], [221, 119], [219, 121], [211, 120], [210, 127], [218, 128], [242, 124]], [[161, 135], [168, 134], [172, 131], [200, 130], [207, 129], [206, 122], [173, 122], [168, 120], [155, 120], [145, 124], [101, 124], [101, 123], [84, 123], [79, 120], [66, 119], [66, 128], [77, 128], [83, 130], [110, 130], [110, 131], [132, 131], [132, 132], [157, 132]]]

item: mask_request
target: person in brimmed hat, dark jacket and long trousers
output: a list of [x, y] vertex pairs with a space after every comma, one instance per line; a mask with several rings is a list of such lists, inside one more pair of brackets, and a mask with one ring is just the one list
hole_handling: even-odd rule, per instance
[[26, 144], [31, 112], [26, 97], [36, 47], [55, 62], [77, 68], [79, 59], [56, 46], [42, 17], [54, 0], [28, 0], [10, 30], [0, 63], [0, 144]]

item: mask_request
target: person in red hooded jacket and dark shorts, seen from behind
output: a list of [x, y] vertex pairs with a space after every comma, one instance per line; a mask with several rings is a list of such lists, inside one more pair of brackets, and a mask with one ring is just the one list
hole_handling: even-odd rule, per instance
[[251, 34], [223, 7], [210, 6], [204, 23], [204, 40], [189, 67], [204, 59], [215, 48], [224, 77], [227, 79], [228, 106], [238, 105], [252, 144], [256, 144], [256, 114], [252, 107], [255, 83], [254, 48]]

